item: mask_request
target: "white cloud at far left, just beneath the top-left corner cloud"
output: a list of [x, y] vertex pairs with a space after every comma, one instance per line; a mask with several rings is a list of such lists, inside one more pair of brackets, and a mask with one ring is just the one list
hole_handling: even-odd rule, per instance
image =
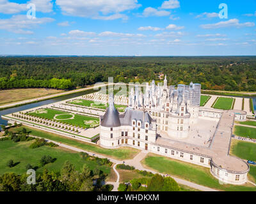
[[13, 15], [11, 18], [0, 19], [0, 29], [19, 34], [33, 34], [31, 29], [40, 24], [46, 24], [54, 21], [53, 18], [35, 18], [30, 20], [26, 15]]

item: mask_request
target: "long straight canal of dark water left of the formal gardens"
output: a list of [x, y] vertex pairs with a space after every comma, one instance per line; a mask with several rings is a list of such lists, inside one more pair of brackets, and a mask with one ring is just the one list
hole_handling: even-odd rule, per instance
[[[44, 106], [44, 105], [48, 105], [50, 103], [56, 103], [58, 101], [63, 101], [63, 100], [69, 99], [69, 98], [76, 98], [78, 96], [83, 96], [85, 94], [90, 94], [92, 92], [95, 92], [95, 91], [93, 89], [90, 89], [90, 90], [86, 90], [86, 91], [76, 92], [74, 94], [68, 94], [68, 95], [65, 95], [65, 96], [60, 96], [58, 98], [52, 98], [52, 99], [48, 99], [48, 100], [45, 100], [45, 101], [39, 101], [39, 102], [36, 102], [36, 103], [30, 103], [30, 104], [27, 104], [27, 105], [22, 105], [22, 106], [17, 106], [17, 107], [14, 107], [14, 108], [8, 108], [8, 109], [5, 109], [5, 110], [1, 110], [0, 111], [0, 124], [7, 125], [7, 120], [3, 120], [1, 118], [1, 115], [7, 115], [7, 114], [10, 114], [10, 113], [20, 112], [22, 110], [28, 110], [30, 108], [35, 108], [35, 107], [38, 107], [38, 106]], [[1, 127], [0, 127], [0, 129], [1, 129]]]

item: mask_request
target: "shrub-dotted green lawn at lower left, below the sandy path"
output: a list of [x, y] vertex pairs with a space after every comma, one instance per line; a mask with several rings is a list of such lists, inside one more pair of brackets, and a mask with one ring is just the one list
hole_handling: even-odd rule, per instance
[[[31, 164], [32, 166], [38, 166], [42, 156], [51, 156], [56, 158], [54, 163], [46, 164], [44, 167], [38, 168], [36, 171], [42, 172], [45, 168], [52, 171], [60, 171], [65, 161], [70, 161], [76, 166], [76, 170], [82, 170], [83, 165], [87, 164], [91, 170], [99, 168], [105, 173], [110, 173], [108, 166], [99, 165], [96, 161], [84, 161], [79, 153], [73, 153], [68, 150], [61, 149], [60, 147], [39, 147], [36, 149], [29, 148], [29, 145], [33, 141], [29, 142], [12, 142], [11, 140], [0, 142], [0, 175], [3, 173], [26, 173], [26, 165]], [[20, 162], [13, 168], [7, 166], [7, 162], [13, 159], [13, 161]]]

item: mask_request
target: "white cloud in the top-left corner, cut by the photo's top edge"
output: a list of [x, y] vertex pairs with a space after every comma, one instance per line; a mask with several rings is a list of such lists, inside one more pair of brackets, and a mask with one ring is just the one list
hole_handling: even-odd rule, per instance
[[36, 11], [49, 13], [52, 11], [52, 0], [31, 0], [24, 4], [12, 3], [8, 0], [0, 0], [0, 13], [14, 14], [22, 11], [28, 11], [27, 5], [33, 3], [36, 6]]

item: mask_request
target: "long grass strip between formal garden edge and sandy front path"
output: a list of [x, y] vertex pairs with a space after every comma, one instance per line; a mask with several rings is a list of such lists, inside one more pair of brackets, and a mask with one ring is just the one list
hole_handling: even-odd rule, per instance
[[49, 133], [46, 131], [38, 130], [35, 128], [30, 128], [27, 126], [20, 126], [19, 128], [12, 128], [10, 131], [20, 131], [22, 128], [26, 128], [27, 131], [30, 132], [31, 135], [39, 136], [41, 138], [53, 140], [55, 142], [61, 142], [66, 145], [70, 145], [72, 147], [77, 147], [79, 149], [88, 150], [90, 152], [95, 152], [97, 154], [102, 154], [105, 156], [112, 157], [114, 159], [132, 159], [136, 154], [140, 152], [140, 150], [132, 149], [132, 148], [119, 148], [119, 149], [104, 149], [97, 145], [92, 145], [90, 143], [81, 142], [79, 140], [72, 140], [65, 136], [56, 135], [54, 133]]

